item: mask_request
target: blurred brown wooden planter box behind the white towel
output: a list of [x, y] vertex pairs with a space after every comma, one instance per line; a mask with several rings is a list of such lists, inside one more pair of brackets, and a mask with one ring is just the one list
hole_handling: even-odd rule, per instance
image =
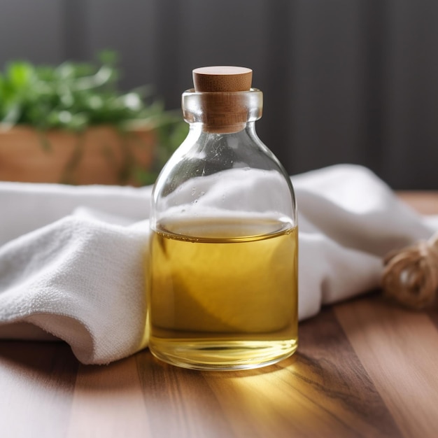
[[136, 184], [135, 174], [153, 162], [153, 129], [119, 133], [91, 127], [82, 134], [0, 131], [0, 180], [66, 184]]

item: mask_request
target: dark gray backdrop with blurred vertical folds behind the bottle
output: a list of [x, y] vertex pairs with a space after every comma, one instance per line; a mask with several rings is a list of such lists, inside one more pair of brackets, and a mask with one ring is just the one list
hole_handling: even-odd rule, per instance
[[178, 108], [191, 71], [249, 66], [257, 132], [290, 174], [363, 164], [438, 189], [438, 1], [0, 0], [0, 67], [118, 50], [122, 87]]

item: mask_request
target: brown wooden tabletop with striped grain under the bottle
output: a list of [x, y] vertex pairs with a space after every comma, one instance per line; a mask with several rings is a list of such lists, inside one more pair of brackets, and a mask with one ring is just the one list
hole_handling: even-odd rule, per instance
[[[403, 194], [438, 213], [438, 193]], [[379, 292], [300, 325], [297, 354], [197, 372], [149, 351], [80, 365], [63, 343], [0, 342], [0, 436], [438, 437], [438, 311]]]

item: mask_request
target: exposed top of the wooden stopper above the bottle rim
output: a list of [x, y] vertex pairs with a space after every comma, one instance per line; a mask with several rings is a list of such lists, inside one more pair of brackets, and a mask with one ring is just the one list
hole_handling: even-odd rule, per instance
[[253, 71], [246, 67], [211, 66], [193, 70], [193, 84], [197, 92], [248, 91]]

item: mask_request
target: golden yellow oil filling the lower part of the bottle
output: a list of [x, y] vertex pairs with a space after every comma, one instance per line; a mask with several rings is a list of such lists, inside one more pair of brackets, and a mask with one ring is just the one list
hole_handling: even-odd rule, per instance
[[261, 367], [297, 349], [297, 229], [192, 219], [153, 231], [150, 351], [194, 369]]

